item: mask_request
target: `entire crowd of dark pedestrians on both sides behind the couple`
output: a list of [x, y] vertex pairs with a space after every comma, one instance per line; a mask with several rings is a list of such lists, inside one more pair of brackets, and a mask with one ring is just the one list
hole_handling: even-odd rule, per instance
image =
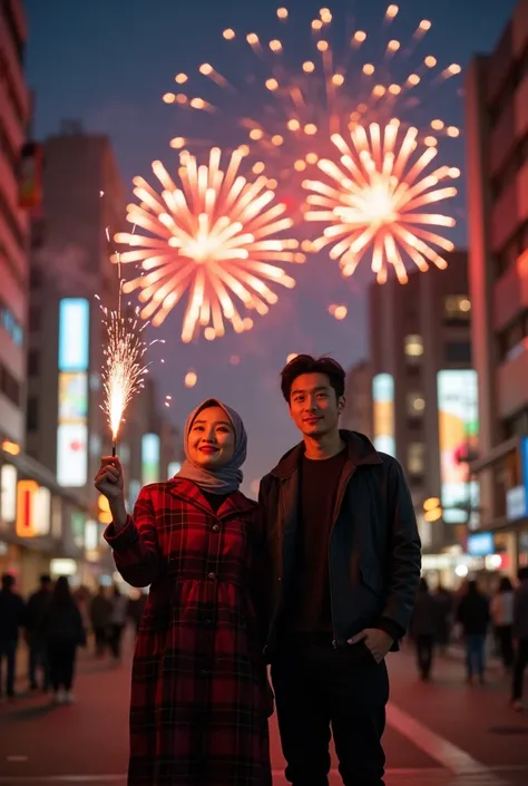
[[[0, 590], [0, 698], [14, 698], [17, 659], [21, 637], [26, 639], [28, 682], [31, 691], [51, 692], [56, 703], [74, 700], [72, 682], [79, 647], [94, 642], [94, 656], [110, 654], [121, 660], [123, 634], [131, 623], [135, 633], [146, 595], [124, 594], [117, 585], [99, 586], [91, 594], [86, 586], [71, 590], [68, 579], [40, 578], [40, 586], [27, 602], [16, 591], [16, 580], [2, 576]], [[446, 653], [462, 642], [466, 679], [486, 681], [487, 643], [511, 679], [511, 701], [522, 709], [522, 682], [528, 666], [528, 567], [519, 571], [514, 586], [507, 576], [499, 580], [489, 596], [476, 580], [466, 581], [458, 592], [439, 585], [432, 592], [426, 579], [420, 582], [409, 637], [414, 644], [422, 680], [431, 679], [434, 653]]]

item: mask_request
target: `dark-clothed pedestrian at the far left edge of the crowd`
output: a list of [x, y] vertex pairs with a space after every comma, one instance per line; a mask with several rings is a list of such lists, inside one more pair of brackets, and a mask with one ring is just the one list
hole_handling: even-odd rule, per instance
[[26, 624], [26, 604], [14, 592], [16, 580], [10, 573], [2, 575], [0, 590], [0, 697], [3, 695], [3, 660], [6, 660], [6, 695], [14, 698], [17, 648], [20, 629]]

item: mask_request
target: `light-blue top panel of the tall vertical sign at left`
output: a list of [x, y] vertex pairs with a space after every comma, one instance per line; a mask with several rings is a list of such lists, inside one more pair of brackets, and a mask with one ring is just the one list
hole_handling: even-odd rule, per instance
[[90, 304], [63, 298], [59, 304], [59, 371], [86, 371], [90, 347]]

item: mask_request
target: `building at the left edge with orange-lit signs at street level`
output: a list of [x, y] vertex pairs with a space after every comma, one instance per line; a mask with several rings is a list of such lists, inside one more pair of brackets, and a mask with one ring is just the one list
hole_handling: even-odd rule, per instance
[[[30, 215], [39, 210], [41, 151], [27, 139], [27, 26], [20, 0], [0, 3], [0, 573], [26, 594], [40, 573], [88, 579], [87, 503], [26, 454]], [[94, 532], [91, 532], [92, 542]]]

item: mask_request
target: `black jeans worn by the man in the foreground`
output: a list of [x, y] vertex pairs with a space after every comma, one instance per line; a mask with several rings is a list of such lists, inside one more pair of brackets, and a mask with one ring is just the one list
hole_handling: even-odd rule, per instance
[[331, 637], [297, 637], [272, 661], [286, 779], [327, 786], [331, 729], [345, 786], [383, 786], [389, 678], [363, 643], [334, 650]]

